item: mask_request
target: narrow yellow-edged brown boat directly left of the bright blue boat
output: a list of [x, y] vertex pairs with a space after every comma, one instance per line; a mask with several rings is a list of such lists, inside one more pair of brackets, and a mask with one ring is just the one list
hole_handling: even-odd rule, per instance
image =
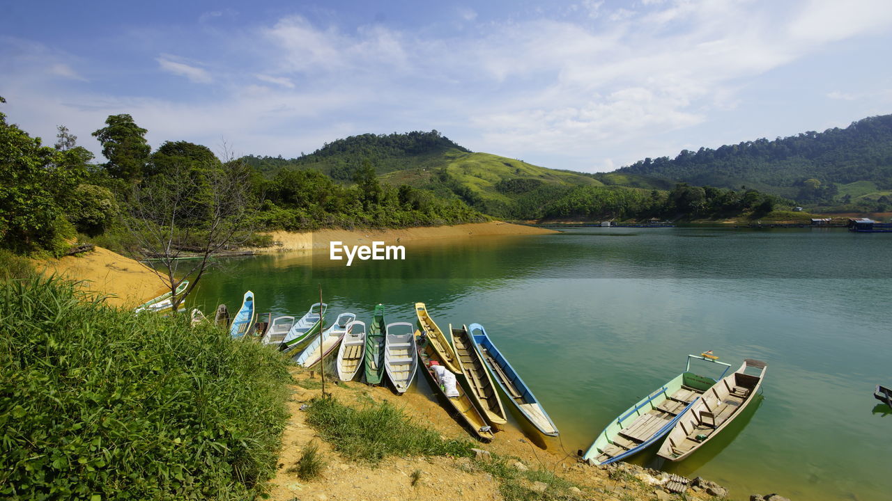
[[483, 363], [483, 356], [474, 348], [474, 341], [467, 332], [467, 326], [462, 325], [460, 329], [453, 329], [450, 324], [449, 333], [458, 358], [458, 367], [461, 368], [461, 374], [465, 376], [467, 382], [468, 395], [493, 427], [498, 428], [500, 424], [508, 423], [505, 408], [501, 406], [499, 390], [492, 384], [490, 373], [486, 371], [486, 364]]

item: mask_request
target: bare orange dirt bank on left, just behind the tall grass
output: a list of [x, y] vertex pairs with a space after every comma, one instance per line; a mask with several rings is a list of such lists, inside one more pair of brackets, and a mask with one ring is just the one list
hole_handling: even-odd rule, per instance
[[157, 275], [134, 259], [102, 247], [76, 256], [37, 261], [35, 267], [45, 275], [55, 273], [83, 281], [82, 289], [109, 296], [106, 301], [113, 306], [137, 306], [166, 292]]

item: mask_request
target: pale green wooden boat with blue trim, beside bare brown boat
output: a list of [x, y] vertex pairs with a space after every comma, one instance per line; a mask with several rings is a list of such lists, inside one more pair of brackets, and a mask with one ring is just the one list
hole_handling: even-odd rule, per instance
[[607, 424], [582, 459], [590, 464], [610, 464], [632, 456], [665, 437], [688, 407], [715, 384], [715, 380], [690, 372], [692, 359], [724, 365], [723, 378], [730, 364], [715, 357], [689, 355], [684, 372], [666, 382], [647, 397], [623, 411]]

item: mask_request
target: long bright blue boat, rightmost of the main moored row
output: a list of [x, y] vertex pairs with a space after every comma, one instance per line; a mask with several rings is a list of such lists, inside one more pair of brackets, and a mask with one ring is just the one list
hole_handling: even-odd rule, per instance
[[508, 363], [496, 345], [492, 343], [481, 324], [470, 324], [467, 327], [474, 341], [475, 349], [483, 358], [483, 363], [492, 374], [492, 379], [499, 385], [499, 389], [508, 397], [508, 400], [516, 407], [521, 415], [542, 434], [549, 437], [558, 436], [558, 427], [551, 421], [545, 408], [533, 395], [533, 390], [526, 385], [514, 367]]

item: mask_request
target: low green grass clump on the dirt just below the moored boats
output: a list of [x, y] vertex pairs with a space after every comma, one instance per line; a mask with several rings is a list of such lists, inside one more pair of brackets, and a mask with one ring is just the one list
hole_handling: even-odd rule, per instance
[[310, 424], [332, 447], [354, 461], [377, 464], [384, 456], [473, 456], [467, 440], [442, 439], [388, 402], [348, 407], [333, 397], [313, 398]]

